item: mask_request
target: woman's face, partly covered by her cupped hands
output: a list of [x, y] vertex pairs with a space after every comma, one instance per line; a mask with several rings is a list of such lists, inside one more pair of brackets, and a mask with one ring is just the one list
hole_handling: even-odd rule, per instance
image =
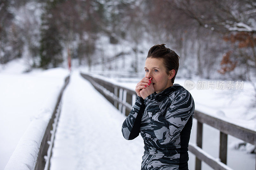
[[164, 89], [172, 86], [172, 81], [166, 73], [162, 58], [147, 58], [145, 63], [145, 77], [152, 78], [155, 92], [159, 93]]

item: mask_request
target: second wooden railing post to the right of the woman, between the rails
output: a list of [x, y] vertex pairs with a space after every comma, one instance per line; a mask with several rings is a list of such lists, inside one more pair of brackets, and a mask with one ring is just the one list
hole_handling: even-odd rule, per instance
[[227, 141], [228, 135], [220, 131], [220, 161], [227, 165]]

